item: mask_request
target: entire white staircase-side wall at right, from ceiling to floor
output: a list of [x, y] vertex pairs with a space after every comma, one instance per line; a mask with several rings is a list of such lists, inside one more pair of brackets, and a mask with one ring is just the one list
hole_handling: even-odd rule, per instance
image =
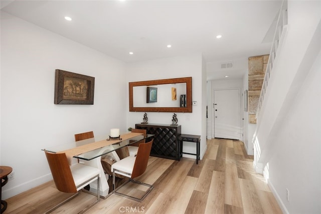
[[266, 166], [264, 175], [284, 213], [321, 212], [320, 11], [319, 1], [288, 2], [284, 42], [254, 136], [254, 162]]

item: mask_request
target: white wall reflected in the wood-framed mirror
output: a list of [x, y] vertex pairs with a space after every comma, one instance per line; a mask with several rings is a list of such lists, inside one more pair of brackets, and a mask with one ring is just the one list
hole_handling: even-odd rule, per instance
[[[181, 95], [186, 94], [186, 83], [149, 85], [157, 88], [157, 101], [146, 102], [147, 86], [133, 87], [134, 107], [181, 107]], [[175, 88], [176, 97], [172, 97], [172, 88]]]

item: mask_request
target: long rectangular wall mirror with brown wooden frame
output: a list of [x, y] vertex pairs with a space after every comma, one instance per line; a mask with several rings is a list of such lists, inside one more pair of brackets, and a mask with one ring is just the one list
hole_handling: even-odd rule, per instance
[[129, 82], [129, 112], [191, 113], [192, 77]]

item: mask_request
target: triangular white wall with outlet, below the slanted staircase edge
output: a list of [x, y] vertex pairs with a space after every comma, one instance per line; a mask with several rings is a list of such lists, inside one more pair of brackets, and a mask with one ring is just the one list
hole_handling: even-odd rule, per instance
[[[269, 182], [289, 213], [321, 213], [321, 52], [276, 133]], [[285, 188], [290, 192], [286, 200]]]

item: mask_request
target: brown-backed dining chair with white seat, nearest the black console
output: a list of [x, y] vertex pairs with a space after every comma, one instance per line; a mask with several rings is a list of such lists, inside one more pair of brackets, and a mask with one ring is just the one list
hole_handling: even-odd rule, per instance
[[[152, 142], [153, 142], [153, 139], [148, 143], [139, 144], [138, 152], [136, 156], [128, 156], [111, 165], [111, 171], [113, 173], [113, 176], [112, 176], [113, 193], [131, 198], [139, 202], [142, 201], [148, 195], [148, 193], [151, 191], [153, 186], [147, 183], [134, 180], [134, 178], [142, 175], [146, 171]], [[129, 178], [126, 182], [124, 182], [122, 185], [120, 185], [116, 189], [115, 189], [115, 174], [120, 174]], [[141, 195], [140, 197], [132, 196], [132, 195], [117, 191], [128, 182], [135, 183], [138, 185], [144, 185], [144, 186], [147, 186], [148, 188], [143, 192], [143, 194], [140, 194]], [[137, 192], [140, 193], [141, 190], [138, 190]]]

